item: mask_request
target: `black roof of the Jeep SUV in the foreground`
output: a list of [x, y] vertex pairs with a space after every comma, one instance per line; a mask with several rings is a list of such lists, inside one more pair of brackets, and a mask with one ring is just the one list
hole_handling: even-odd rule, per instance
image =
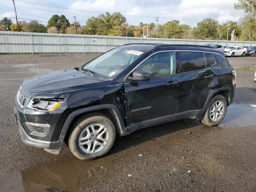
[[[125, 44], [130, 49], [149, 51], [149, 50], [168, 50], [170, 48], [176, 50], [200, 50], [222, 53], [219, 50], [214, 49], [212, 46], [205, 45], [190, 45], [190, 44], [157, 44], [157, 43], [130, 43]], [[222, 53], [223, 54], [223, 53]]]

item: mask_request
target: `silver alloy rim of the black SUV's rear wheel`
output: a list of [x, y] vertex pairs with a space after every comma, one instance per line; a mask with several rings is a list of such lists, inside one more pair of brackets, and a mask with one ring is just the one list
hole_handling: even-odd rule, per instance
[[224, 116], [224, 103], [221, 100], [214, 102], [210, 108], [210, 119], [218, 122]]

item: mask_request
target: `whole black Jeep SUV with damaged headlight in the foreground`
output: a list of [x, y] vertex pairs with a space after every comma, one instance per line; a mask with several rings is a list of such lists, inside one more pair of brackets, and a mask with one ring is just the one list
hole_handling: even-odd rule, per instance
[[127, 44], [23, 82], [14, 111], [25, 144], [58, 154], [66, 138], [77, 158], [94, 159], [116, 134], [184, 118], [219, 124], [235, 78], [223, 53], [207, 46]]

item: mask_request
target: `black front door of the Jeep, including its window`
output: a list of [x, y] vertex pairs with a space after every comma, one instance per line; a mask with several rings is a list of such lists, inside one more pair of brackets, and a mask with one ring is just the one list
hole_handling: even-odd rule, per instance
[[175, 74], [175, 52], [153, 54], [136, 70], [148, 72], [150, 80], [124, 83], [127, 125], [164, 116], [175, 118], [180, 89], [180, 78]]

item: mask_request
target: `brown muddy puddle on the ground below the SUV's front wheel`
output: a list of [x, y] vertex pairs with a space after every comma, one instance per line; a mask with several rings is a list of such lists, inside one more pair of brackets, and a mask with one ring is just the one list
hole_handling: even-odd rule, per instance
[[88, 181], [96, 179], [107, 169], [106, 161], [66, 160], [28, 168], [21, 173], [0, 179], [0, 191], [71, 192], [80, 191]]

